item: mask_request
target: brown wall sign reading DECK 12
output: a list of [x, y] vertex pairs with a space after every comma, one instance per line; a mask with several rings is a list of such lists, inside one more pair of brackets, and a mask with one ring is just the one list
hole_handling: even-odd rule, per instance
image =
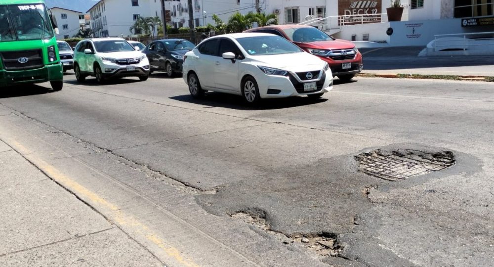
[[344, 16], [339, 25], [381, 22], [382, 0], [339, 0], [338, 15]]

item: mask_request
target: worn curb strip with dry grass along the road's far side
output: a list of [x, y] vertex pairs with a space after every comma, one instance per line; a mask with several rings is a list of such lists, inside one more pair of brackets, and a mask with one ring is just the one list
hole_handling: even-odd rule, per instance
[[494, 82], [494, 76], [474, 75], [436, 75], [436, 74], [400, 74], [400, 73], [359, 73], [358, 77], [368, 78], [408, 78], [408, 79], [434, 79], [434, 80], [457, 80], [457, 81], [483, 81]]

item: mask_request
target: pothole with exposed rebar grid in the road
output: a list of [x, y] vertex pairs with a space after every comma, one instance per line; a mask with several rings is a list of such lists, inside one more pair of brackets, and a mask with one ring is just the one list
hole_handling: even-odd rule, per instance
[[437, 155], [422, 152], [403, 155], [374, 150], [357, 155], [355, 159], [360, 163], [361, 172], [390, 181], [441, 171], [454, 164], [453, 153], [449, 151]]

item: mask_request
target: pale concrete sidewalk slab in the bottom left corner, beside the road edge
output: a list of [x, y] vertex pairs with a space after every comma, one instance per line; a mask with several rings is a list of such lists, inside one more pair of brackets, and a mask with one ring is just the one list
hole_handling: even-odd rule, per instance
[[163, 266], [0, 140], [0, 266]]

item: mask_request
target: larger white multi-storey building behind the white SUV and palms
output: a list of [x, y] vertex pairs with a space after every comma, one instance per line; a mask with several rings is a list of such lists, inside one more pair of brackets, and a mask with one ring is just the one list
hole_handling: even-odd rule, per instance
[[132, 36], [129, 28], [139, 17], [162, 18], [161, 0], [100, 0], [87, 13], [94, 37]]

